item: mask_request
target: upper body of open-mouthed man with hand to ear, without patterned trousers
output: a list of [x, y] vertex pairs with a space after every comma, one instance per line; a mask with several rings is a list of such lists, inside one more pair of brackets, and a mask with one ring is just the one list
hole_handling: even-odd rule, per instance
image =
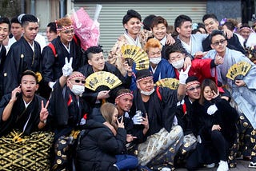
[[48, 102], [35, 94], [38, 77], [31, 70], [22, 74], [21, 85], [2, 97], [0, 102], [0, 136], [19, 129], [25, 135], [46, 126]]

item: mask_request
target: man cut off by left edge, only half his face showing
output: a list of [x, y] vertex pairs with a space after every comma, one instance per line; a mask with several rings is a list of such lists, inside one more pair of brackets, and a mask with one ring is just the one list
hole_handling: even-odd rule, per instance
[[3, 95], [3, 73], [2, 68], [6, 60], [6, 48], [2, 42], [7, 38], [10, 32], [10, 21], [8, 18], [0, 17], [0, 99]]

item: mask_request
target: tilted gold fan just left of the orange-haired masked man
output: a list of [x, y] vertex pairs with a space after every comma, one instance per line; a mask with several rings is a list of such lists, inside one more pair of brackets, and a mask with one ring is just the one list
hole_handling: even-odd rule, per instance
[[150, 60], [144, 50], [138, 46], [126, 45], [121, 47], [122, 57], [129, 66], [135, 65], [135, 70], [149, 69]]

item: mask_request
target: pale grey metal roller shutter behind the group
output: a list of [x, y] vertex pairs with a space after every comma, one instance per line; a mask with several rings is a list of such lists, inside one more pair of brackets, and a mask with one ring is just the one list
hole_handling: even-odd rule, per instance
[[93, 17], [96, 4], [102, 5], [99, 15], [100, 45], [107, 54], [111, 50], [118, 37], [123, 34], [122, 17], [127, 10], [137, 10], [142, 15], [142, 20], [149, 14], [161, 15], [166, 18], [169, 25], [174, 25], [174, 19], [179, 14], [186, 14], [193, 22], [202, 22], [202, 16], [206, 14], [206, 1], [201, 2], [75, 2], [74, 9], [84, 7], [86, 12]]

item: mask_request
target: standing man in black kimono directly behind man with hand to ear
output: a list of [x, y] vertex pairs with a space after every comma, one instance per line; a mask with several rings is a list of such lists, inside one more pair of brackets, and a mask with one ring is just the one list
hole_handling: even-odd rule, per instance
[[10, 47], [3, 66], [3, 94], [10, 93], [19, 85], [25, 70], [40, 71], [41, 48], [34, 41], [38, 34], [38, 19], [34, 15], [23, 15], [22, 32], [22, 38]]

